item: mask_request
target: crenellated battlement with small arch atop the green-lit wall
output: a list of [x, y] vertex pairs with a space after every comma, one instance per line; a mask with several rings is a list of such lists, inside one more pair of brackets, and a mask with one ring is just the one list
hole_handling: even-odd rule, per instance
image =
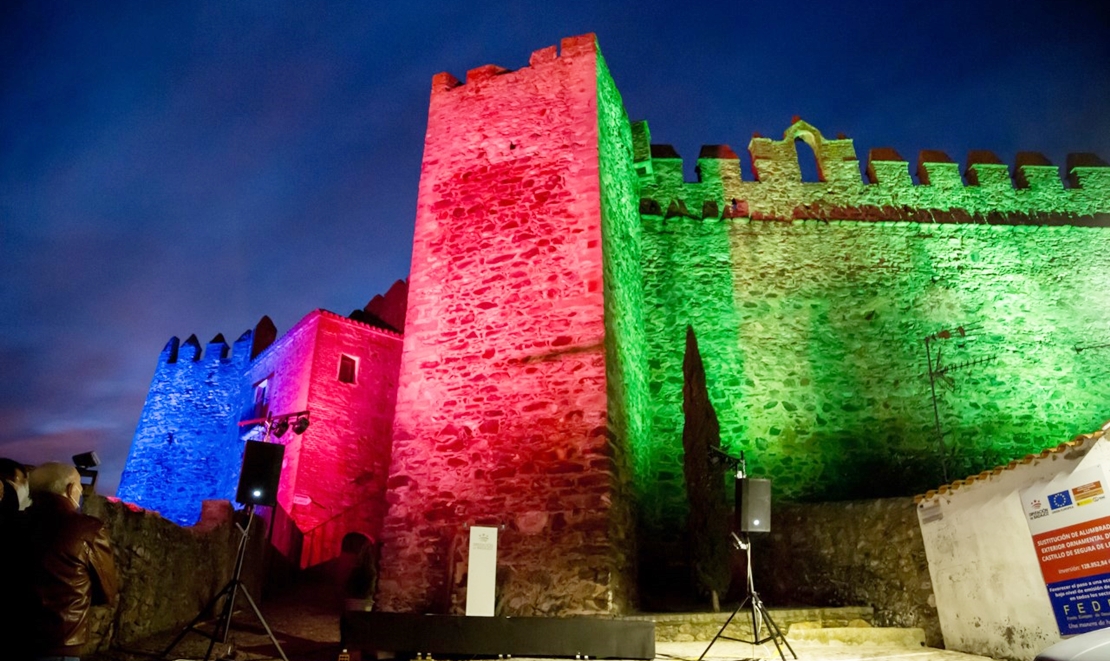
[[[795, 118], [781, 140], [753, 137], [749, 180], [729, 147], [707, 146], [698, 180], [686, 181], [683, 159], [669, 144], [652, 144], [646, 122], [633, 127], [633, 141], [645, 217], [1110, 224], [1110, 166], [1091, 153], [1068, 156], [1064, 187], [1040, 153], [1020, 152], [1011, 176], [990, 151], [969, 152], [961, 170], [947, 153], [922, 150], [915, 182], [896, 150], [871, 149], [861, 176], [851, 139], [828, 139]], [[803, 180], [799, 142], [813, 151], [818, 181]]]

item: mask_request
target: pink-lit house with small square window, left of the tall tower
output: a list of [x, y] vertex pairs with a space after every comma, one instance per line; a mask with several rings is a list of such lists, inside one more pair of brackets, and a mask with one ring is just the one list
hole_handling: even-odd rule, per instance
[[301, 567], [337, 557], [346, 534], [381, 537], [400, 358], [397, 333], [316, 310], [251, 368], [252, 384], [269, 379], [271, 413], [310, 412], [307, 431], [276, 439], [286, 449], [273, 541]]

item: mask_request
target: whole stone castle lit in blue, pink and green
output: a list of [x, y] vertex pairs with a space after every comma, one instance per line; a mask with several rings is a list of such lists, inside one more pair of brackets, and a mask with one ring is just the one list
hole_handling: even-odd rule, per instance
[[593, 34], [436, 76], [407, 283], [230, 350], [171, 340], [119, 495], [191, 523], [249, 421], [309, 411], [273, 439], [301, 567], [363, 535], [377, 608], [457, 611], [467, 529], [495, 524], [503, 613], [614, 613], [684, 537], [687, 329], [723, 449], [776, 498], [924, 491], [1110, 418], [1097, 157], [1066, 187], [1036, 153], [922, 151], [915, 181], [877, 149], [865, 180], [800, 120], [748, 153], [706, 147], [686, 181]]

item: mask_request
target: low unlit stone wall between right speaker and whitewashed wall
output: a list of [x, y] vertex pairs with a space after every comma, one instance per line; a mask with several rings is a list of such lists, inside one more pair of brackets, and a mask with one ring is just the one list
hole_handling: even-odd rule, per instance
[[912, 499], [779, 503], [771, 530], [753, 543], [768, 605], [869, 605], [875, 625], [917, 627], [944, 647]]

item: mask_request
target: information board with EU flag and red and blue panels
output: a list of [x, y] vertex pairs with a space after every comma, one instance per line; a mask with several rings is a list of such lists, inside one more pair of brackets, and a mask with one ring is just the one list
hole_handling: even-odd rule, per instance
[[1101, 465], [1021, 492], [1062, 635], [1110, 627], [1110, 480]]

